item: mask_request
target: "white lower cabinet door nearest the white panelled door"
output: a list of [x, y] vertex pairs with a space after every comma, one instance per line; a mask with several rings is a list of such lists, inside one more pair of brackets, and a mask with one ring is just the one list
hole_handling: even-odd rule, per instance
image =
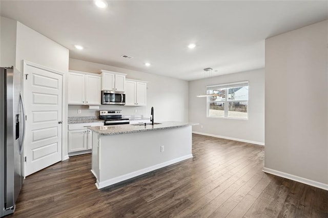
[[87, 129], [68, 131], [68, 152], [87, 149]]

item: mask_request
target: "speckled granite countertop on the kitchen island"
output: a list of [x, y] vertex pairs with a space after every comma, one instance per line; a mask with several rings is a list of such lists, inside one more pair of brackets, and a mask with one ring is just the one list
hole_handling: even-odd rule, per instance
[[127, 133], [139, 133], [151, 130], [160, 130], [160, 129], [169, 129], [169, 128], [178, 128], [184, 126], [198, 125], [198, 123], [185, 123], [185, 122], [160, 122], [160, 124], [155, 125], [133, 125], [133, 124], [125, 124], [125, 125], [110, 125], [110, 126], [92, 126], [88, 127], [88, 129], [98, 133], [99, 135], [119, 135], [119, 134], [127, 134]]

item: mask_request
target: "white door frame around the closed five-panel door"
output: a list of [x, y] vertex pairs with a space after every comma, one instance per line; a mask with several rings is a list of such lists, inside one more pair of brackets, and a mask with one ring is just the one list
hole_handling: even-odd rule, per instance
[[[66, 96], [66, 89], [67, 89], [67, 82], [66, 82], [66, 73], [42, 66], [40, 64], [37, 63], [33, 63], [27, 60], [23, 60], [23, 97], [24, 97], [24, 93], [26, 93], [26, 72], [25, 69], [27, 68], [27, 66], [30, 67], [34, 67], [34, 68], [38, 68], [41, 70], [46, 70], [46, 71], [50, 71], [52, 73], [55, 74], [59, 74], [61, 76], [63, 76], [63, 90], [62, 90], [62, 99], [61, 99], [61, 105], [63, 105], [61, 107], [61, 120], [63, 121], [63, 124], [61, 126], [61, 161], [67, 160], [69, 159], [68, 157], [68, 143], [67, 143], [67, 133], [68, 133], [68, 124], [67, 124], [67, 110], [68, 110], [68, 106], [67, 106], [67, 96]], [[26, 110], [28, 110], [28, 105], [26, 107]], [[26, 142], [24, 142], [26, 143]], [[24, 151], [24, 157], [25, 157], [25, 151]], [[26, 164], [26, 162], [24, 163], [24, 165]], [[24, 172], [25, 175], [25, 172]]]

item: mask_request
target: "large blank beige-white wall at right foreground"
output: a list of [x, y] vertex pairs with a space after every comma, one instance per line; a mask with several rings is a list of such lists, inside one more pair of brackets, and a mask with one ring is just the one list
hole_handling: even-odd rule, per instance
[[327, 24], [265, 40], [264, 162], [264, 171], [326, 189]]

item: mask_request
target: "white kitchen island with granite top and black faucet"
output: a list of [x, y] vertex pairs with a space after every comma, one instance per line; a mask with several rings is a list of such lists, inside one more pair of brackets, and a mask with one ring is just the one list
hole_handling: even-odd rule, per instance
[[192, 125], [88, 127], [93, 132], [92, 173], [98, 189], [192, 158]]

